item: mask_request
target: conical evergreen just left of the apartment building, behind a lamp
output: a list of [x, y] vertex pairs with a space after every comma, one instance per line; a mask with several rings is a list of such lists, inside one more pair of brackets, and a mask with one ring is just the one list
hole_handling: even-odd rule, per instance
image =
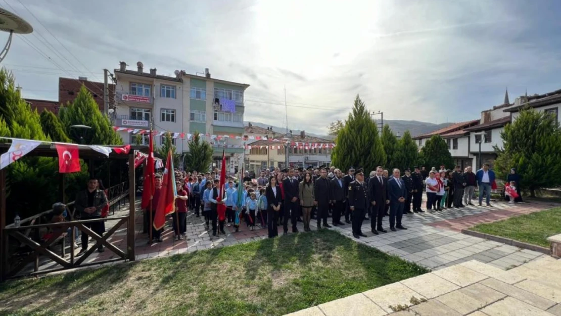
[[[99, 111], [90, 91], [82, 85], [72, 103], [59, 110], [66, 134], [74, 143], [88, 145], [122, 145], [121, 137], [113, 130], [109, 118]], [[72, 129], [72, 125], [86, 125], [91, 129]], [[83, 139], [82, 139], [83, 138]]]

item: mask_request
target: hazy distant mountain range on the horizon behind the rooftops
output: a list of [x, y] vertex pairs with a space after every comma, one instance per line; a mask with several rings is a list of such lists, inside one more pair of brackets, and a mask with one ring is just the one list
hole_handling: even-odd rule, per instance
[[[247, 126], [247, 123], [249, 122], [243, 122], [243, 124], [245, 126]], [[260, 123], [260, 122], [251, 122], [252, 125], [254, 126], [259, 126], [259, 127], [263, 127], [264, 129], [266, 129], [267, 127], [271, 127], [271, 125], [267, 125], [264, 123]], [[428, 122], [420, 122], [420, 121], [404, 121], [404, 120], [384, 120], [384, 124], [389, 125], [390, 129], [392, 129], [392, 131], [396, 134], [396, 135], [403, 135], [403, 133], [407, 130], [409, 130], [411, 132], [411, 135], [413, 137], [417, 136], [417, 135], [422, 135], [422, 134], [426, 134], [428, 132], [431, 131], [435, 131], [435, 130], [439, 130], [439, 129], [443, 129], [444, 127], [450, 126], [453, 123], [440, 123], [440, 124], [434, 124], [434, 123], [428, 123]], [[278, 127], [278, 126], [272, 126], [273, 127], [273, 131], [278, 132], [278, 133], [284, 133], [286, 132], [286, 127]], [[300, 134], [301, 130], [292, 130], [292, 134]], [[315, 137], [319, 137], [319, 138], [325, 138], [325, 139], [333, 139], [333, 136], [331, 135], [321, 135], [321, 134], [315, 134], [315, 133], [311, 133], [311, 132], [306, 132], [307, 135], [310, 136], [315, 136]]]

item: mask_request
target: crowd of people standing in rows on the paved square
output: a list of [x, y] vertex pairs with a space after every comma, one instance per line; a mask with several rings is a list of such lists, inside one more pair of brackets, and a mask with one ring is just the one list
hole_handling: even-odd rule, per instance
[[[507, 199], [522, 201], [517, 182], [520, 180], [513, 170], [507, 185], [517, 191], [516, 199], [507, 193]], [[267, 228], [269, 237], [278, 235], [278, 227], [283, 227], [284, 235], [289, 230], [298, 232], [297, 222], [304, 224], [304, 231], [310, 230], [310, 222], [316, 219], [318, 229], [352, 224], [353, 236], [366, 236], [362, 232], [364, 221], [370, 221], [370, 231], [375, 235], [387, 233], [384, 217], [388, 217], [390, 231], [406, 230], [402, 219], [404, 213], [423, 213], [423, 192], [426, 194], [425, 209], [440, 211], [448, 208], [463, 208], [474, 205], [475, 188], [479, 187], [479, 205], [483, 199], [488, 207], [491, 189], [496, 187], [495, 173], [484, 164], [473, 172], [471, 167], [461, 170], [440, 170], [415, 166], [409, 169], [394, 169], [390, 174], [383, 167], [377, 167], [365, 176], [364, 170], [349, 168], [346, 174], [335, 167], [318, 168], [270, 168], [251, 178], [245, 172], [241, 179], [226, 178], [224, 196], [219, 199], [219, 171], [199, 173], [196, 171], [176, 171], [177, 196], [176, 213], [173, 218], [175, 238], [185, 238], [186, 213], [191, 209], [194, 216], [204, 217], [205, 229], [213, 236], [223, 233], [224, 227], [233, 226], [238, 232], [242, 222], [249, 230]], [[153, 212], [158, 203], [161, 176], [155, 177], [156, 190], [153, 196]], [[239, 190], [242, 190], [240, 194]], [[512, 192], [509, 190], [508, 192]], [[241, 198], [241, 201], [240, 201]], [[218, 217], [218, 205], [226, 204], [226, 217]], [[241, 205], [241, 206], [240, 206]], [[145, 212], [145, 214], [148, 212]], [[328, 218], [331, 223], [328, 223]], [[344, 223], [343, 223], [344, 221]], [[145, 216], [145, 232], [149, 219]], [[151, 228], [152, 241], [161, 242], [161, 230]]]

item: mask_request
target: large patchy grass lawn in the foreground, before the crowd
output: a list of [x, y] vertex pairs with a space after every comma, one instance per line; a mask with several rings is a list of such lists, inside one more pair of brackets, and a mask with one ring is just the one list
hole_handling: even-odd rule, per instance
[[0, 285], [0, 315], [284, 315], [428, 272], [337, 232]]

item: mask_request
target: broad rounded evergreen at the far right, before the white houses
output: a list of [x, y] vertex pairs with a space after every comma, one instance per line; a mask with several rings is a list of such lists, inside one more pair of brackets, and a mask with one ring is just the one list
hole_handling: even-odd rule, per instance
[[531, 196], [541, 187], [561, 185], [561, 130], [555, 116], [525, 109], [500, 135], [504, 148], [495, 146], [494, 165], [499, 178], [516, 168], [520, 186]]

